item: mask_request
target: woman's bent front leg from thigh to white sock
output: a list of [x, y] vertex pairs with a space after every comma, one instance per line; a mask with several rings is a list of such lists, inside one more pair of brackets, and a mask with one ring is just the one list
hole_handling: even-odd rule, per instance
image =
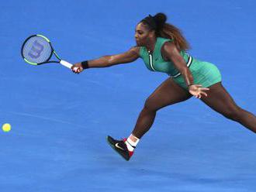
[[157, 110], [167, 105], [185, 101], [191, 97], [192, 95], [189, 94], [189, 91], [185, 91], [171, 78], [168, 78], [147, 98], [132, 134], [140, 139], [153, 124]]

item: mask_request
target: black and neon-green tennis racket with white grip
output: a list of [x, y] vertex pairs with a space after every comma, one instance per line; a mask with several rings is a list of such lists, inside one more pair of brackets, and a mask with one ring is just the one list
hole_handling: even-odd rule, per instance
[[[53, 53], [57, 60], [50, 60]], [[21, 54], [26, 63], [32, 65], [41, 65], [44, 63], [61, 63], [64, 67], [72, 67], [71, 63], [68, 63], [61, 58], [55, 52], [50, 40], [42, 35], [29, 36], [22, 44]]]

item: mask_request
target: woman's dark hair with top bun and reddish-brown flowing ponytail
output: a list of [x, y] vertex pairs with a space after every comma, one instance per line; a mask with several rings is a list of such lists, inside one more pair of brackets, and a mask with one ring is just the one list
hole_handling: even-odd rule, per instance
[[159, 12], [154, 16], [148, 15], [140, 22], [146, 25], [148, 29], [154, 30], [156, 36], [173, 39], [179, 50], [189, 50], [189, 43], [182, 35], [182, 31], [170, 23], [167, 23], [166, 20], [167, 16], [164, 13]]

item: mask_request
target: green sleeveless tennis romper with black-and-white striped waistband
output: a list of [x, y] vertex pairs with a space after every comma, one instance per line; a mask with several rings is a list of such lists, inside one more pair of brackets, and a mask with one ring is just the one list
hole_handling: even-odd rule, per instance
[[[175, 64], [171, 61], [165, 61], [161, 56], [161, 47], [168, 41], [172, 41], [172, 39], [157, 37], [153, 53], [149, 53], [145, 46], [141, 46], [140, 57], [144, 60], [147, 69], [168, 74], [178, 85], [188, 90], [185, 79], [175, 68]], [[192, 73], [194, 84], [202, 84], [202, 87], [209, 87], [221, 81], [220, 70], [213, 63], [195, 60], [184, 50], [180, 54]]]

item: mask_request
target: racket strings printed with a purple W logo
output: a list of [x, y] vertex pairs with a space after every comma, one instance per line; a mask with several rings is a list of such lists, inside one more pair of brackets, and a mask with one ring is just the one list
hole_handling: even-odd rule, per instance
[[50, 59], [52, 48], [41, 36], [32, 36], [22, 48], [23, 57], [32, 63], [43, 63]]

